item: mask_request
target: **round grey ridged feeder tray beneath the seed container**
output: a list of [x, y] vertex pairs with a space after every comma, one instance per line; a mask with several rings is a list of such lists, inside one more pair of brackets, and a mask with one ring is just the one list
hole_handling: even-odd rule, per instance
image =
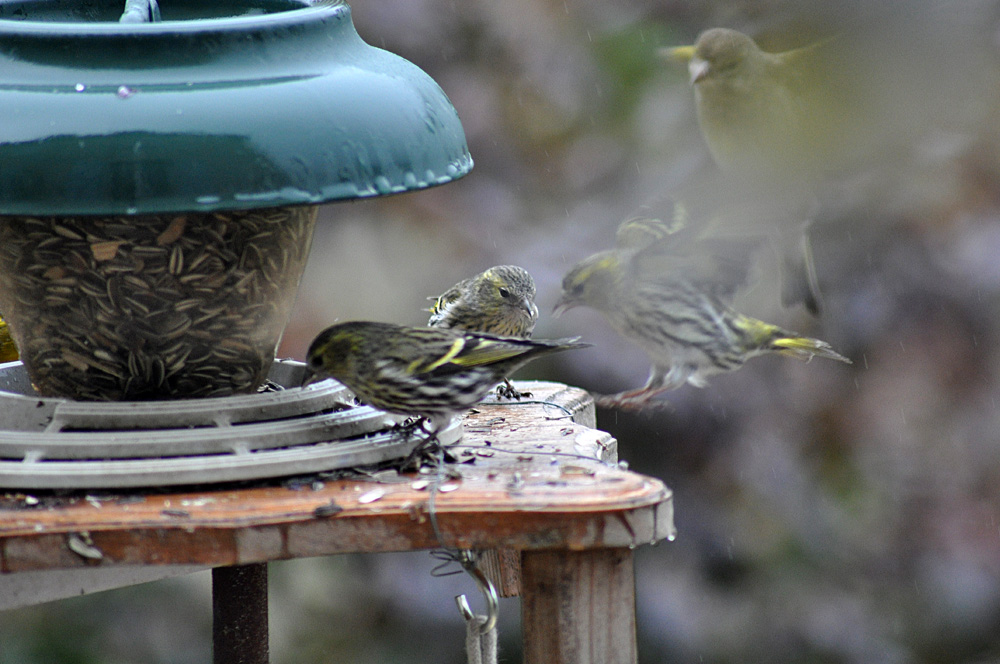
[[[349, 406], [329, 379], [299, 387], [305, 365], [274, 362], [286, 389], [160, 402], [39, 397], [20, 362], [0, 364], [0, 488], [98, 489], [210, 484], [364, 466], [405, 457], [429, 434]], [[458, 418], [437, 433], [462, 436]]]

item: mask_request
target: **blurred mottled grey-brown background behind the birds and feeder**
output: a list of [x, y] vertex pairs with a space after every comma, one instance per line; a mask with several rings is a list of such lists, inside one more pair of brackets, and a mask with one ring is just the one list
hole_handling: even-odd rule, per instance
[[[768, 50], [848, 34], [891, 147], [824, 191], [825, 310], [782, 308], [762, 256], [741, 311], [851, 367], [751, 360], [644, 413], [602, 410], [632, 469], [675, 492], [678, 538], [637, 551], [641, 662], [1000, 660], [1000, 2], [355, 0], [362, 37], [438, 81], [473, 172], [321, 211], [279, 353], [340, 319], [423, 324], [425, 298], [525, 267], [535, 336], [595, 352], [528, 367], [609, 393], [645, 355], [595, 312], [547, 315], [562, 274], [638, 207], [714, 166], [687, 72], [657, 58], [725, 26]], [[290, 128], [290, 130], [293, 130]], [[426, 554], [271, 566], [272, 661], [460, 662]], [[516, 600], [501, 661], [520, 660]], [[204, 574], [3, 614], [0, 664], [204, 662]]]

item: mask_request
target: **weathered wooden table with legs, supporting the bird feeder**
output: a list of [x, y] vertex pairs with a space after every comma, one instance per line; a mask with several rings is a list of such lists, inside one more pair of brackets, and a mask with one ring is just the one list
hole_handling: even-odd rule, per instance
[[47, 579], [211, 567], [215, 661], [262, 664], [268, 561], [474, 549], [492, 552], [501, 594], [521, 597], [526, 663], [635, 662], [632, 550], [672, 538], [670, 490], [618, 467], [586, 392], [516, 385], [532, 399], [467, 415], [444, 475], [68, 496], [0, 488], [0, 596], [17, 587], [27, 605], [53, 596]]

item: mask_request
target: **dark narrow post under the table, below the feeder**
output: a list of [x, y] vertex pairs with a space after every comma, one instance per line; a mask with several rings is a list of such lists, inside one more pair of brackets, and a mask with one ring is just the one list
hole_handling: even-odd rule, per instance
[[212, 570], [215, 664], [267, 664], [267, 563]]

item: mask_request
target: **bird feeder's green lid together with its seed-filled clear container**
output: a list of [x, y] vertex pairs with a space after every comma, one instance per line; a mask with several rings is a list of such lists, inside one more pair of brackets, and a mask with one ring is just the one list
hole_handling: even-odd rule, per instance
[[254, 392], [317, 205], [472, 168], [347, 5], [147, 2], [0, 0], [0, 312], [43, 396]]

